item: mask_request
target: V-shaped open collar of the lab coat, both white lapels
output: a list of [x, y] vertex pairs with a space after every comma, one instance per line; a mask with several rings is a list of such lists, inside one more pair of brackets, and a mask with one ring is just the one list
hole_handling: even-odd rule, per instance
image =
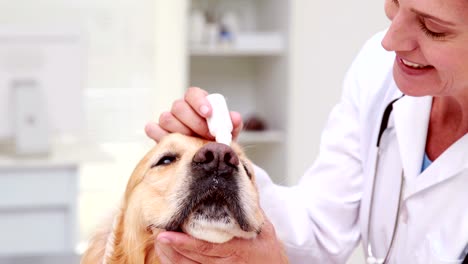
[[431, 106], [430, 96], [404, 96], [394, 104], [395, 131], [406, 181], [404, 199], [468, 167], [468, 136], [465, 135], [421, 173]]

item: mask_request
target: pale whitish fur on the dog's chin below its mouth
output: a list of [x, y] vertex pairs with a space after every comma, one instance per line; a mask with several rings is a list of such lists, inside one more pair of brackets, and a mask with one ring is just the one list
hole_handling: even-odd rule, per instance
[[224, 221], [193, 219], [190, 217], [182, 226], [182, 230], [197, 239], [211, 243], [228, 242], [234, 237], [250, 239], [257, 235], [255, 232], [243, 231], [234, 219], [231, 218], [230, 220], [229, 223], [225, 223]]

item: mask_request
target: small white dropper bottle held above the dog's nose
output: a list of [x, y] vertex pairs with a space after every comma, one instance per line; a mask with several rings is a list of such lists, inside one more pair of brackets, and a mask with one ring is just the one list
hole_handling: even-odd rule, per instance
[[226, 100], [218, 93], [210, 94], [206, 98], [213, 109], [211, 117], [206, 119], [210, 134], [216, 138], [216, 142], [230, 146], [233, 127]]

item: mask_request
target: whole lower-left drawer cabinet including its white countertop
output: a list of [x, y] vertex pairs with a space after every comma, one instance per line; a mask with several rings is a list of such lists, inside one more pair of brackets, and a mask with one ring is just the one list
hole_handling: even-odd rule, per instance
[[80, 165], [111, 157], [90, 142], [63, 141], [46, 156], [19, 157], [0, 144], [0, 263], [74, 254]]

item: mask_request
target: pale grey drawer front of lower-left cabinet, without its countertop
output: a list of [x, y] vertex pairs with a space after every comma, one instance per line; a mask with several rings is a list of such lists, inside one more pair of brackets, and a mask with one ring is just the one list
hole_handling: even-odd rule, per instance
[[0, 256], [70, 254], [77, 165], [0, 167]]

